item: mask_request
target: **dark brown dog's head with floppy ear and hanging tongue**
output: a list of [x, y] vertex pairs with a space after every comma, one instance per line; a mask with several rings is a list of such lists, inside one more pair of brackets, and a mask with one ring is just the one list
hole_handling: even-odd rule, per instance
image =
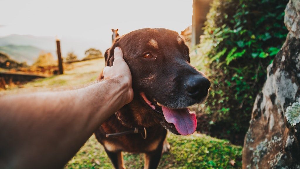
[[139, 29], [116, 39], [105, 53], [113, 63], [113, 50], [121, 47], [132, 74], [134, 99], [152, 109], [153, 118], [174, 134], [192, 134], [196, 115], [187, 106], [203, 102], [210, 87], [206, 76], [190, 65], [182, 37], [168, 29]]

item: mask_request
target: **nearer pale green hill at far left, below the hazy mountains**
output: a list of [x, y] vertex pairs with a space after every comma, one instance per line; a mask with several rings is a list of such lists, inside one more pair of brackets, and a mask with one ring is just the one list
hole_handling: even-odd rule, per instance
[[27, 62], [31, 65], [38, 58], [39, 54], [44, 52], [50, 52], [52, 55], [54, 52], [45, 51], [43, 49], [34, 46], [21, 46], [21, 45], [6, 45], [0, 46], [0, 52], [4, 52], [9, 55], [9, 57], [17, 62]]

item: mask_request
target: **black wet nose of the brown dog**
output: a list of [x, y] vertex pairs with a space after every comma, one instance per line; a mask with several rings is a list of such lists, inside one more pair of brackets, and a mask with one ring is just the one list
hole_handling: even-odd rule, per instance
[[208, 94], [210, 81], [202, 75], [194, 75], [187, 79], [184, 84], [185, 90], [192, 98], [202, 98]]

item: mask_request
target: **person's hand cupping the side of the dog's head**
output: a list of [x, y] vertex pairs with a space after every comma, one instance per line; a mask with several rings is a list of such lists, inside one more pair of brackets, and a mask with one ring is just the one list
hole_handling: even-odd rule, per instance
[[130, 103], [133, 99], [132, 77], [130, 69], [123, 58], [123, 53], [120, 47], [114, 49], [113, 66], [105, 66], [103, 69], [103, 77], [105, 79], [114, 79], [120, 83], [124, 90], [124, 102]]

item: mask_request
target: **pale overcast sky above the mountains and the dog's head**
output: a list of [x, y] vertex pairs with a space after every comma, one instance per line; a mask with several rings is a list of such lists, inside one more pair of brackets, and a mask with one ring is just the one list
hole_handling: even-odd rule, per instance
[[0, 37], [10, 34], [72, 37], [111, 46], [119, 34], [162, 27], [181, 32], [192, 24], [193, 0], [0, 0]]

